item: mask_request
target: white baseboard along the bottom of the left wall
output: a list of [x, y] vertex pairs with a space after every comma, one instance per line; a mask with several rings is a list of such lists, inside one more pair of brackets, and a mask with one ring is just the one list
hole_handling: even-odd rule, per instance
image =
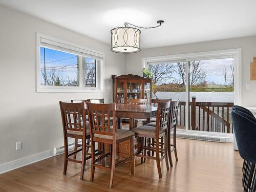
[[10, 170], [23, 167], [23, 166], [26, 166], [26, 165], [29, 165], [53, 156], [54, 156], [54, 150], [48, 150], [45, 152], [37, 153], [37, 154], [23, 157], [14, 161], [0, 164], [0, 174], [9, 172]]

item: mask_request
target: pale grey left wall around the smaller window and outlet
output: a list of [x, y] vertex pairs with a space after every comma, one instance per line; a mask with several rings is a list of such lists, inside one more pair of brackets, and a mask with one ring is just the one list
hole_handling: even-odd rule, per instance
[[[61, 146], [58, 101], [104, 97], [110, 102], [110, 77], [125, 74], [125, 55], [111, 52], [110, 45], [4, 6], [0, 6], [0, 26], [1, 165]], [[36, 32], [104, 52], [105, 94], [36, 93]], [[22, 150], [15, 150], [16, 141], [22, 141]]]

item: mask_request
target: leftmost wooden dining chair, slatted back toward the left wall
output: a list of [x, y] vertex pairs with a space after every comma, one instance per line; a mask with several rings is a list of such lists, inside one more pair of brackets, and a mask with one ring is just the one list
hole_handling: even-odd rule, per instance
[[[62, 127], [63, 127], [63, 137], [64, 137], [64, 150], [65, 150], [65, 161], [63, 174], [67, 174], [68, 161], [73, 161], [76, 163], [81, 163], [80, 179], [83, 179], [84, 166], [86, 165], [86, 160], [90, 159], [91, 156], [86, 157], [86, 155], [91, 155], [86, 152], [86, 147], [91, 147], [86, 144], [86, 139], [90, 139], [89, 123], [86, 120], [86, 110], [84, 102], [80, 103], [67, 103], [59, 101]], [[74, 149], [74, 152], [69, 154], [69, 144], [68, 138], [81, 139], [81, 148], [78, 150]], [[71, 158], [70, 156], [77, 154], [82, 151], [82, 160], [76, 160], [76, 158]]]

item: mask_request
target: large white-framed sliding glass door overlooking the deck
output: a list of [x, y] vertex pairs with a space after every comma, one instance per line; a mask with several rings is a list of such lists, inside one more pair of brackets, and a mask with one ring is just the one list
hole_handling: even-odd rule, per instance
[[[179, 131], [231, 138], [241, 104], [241, 49], [142, 58], [159, 99], [180, 100]], [[189, 82], [189, 83], [187, 83]]]

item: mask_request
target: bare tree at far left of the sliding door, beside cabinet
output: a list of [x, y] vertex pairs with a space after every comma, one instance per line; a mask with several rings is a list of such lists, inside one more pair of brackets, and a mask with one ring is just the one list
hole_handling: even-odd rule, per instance
[[162, 84], [172, 79], [174, 67], [169, 63], [159, 63], [150, 65], [153, 82], [155, 84]]

